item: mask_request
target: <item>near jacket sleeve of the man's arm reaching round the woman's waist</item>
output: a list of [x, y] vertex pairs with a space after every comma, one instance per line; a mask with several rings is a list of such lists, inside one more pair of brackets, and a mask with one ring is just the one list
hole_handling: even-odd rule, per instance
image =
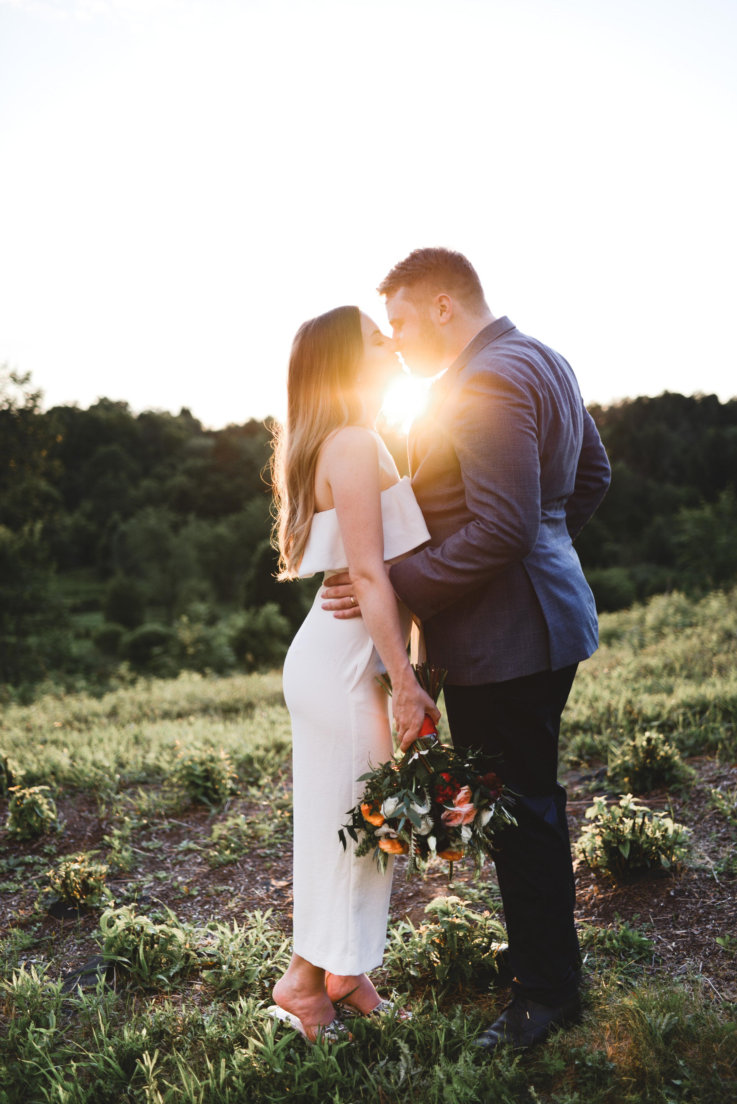
[[471, 371], [463, 379], [451, 435], [473, 520], [438, 548], [394, 564], [389, 573], [398, 596], [423, 620], [523, 560], [540, 530], [534, 395], [499, 372]]

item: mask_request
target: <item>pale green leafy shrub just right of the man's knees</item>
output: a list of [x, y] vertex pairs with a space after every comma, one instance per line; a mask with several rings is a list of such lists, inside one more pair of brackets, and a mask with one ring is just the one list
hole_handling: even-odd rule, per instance
[[652, 867], [667, 869], [687, 853], [687, 829], [638, 805], [631, 794], [609, 808], [605, 797], [595, 798], [586, 817], [591, 824], [578, 837], [576, 851], [591, 870], [615, 881]]

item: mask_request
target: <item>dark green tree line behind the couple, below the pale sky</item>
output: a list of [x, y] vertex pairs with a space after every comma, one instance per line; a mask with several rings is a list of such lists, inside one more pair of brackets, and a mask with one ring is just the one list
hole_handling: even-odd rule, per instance
[[[41, 397], [0, 376], [0, 684], [278, 666], [319, 581], [274, 578], [270, 422]], [[576, 541], [598, 607], [731, 583], [737, 401], [590, 410], [612, 465]], [[385, 439], [405, 473], [403, 438]]]

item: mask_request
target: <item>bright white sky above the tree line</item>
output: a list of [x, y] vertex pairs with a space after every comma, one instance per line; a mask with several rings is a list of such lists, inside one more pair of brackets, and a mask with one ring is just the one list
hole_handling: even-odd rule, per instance
[[728, 399], [736, 54], [734, 0], [0, 0], [0, 364], [282, 416], [300, 322], [447, 245], [586, 402]]

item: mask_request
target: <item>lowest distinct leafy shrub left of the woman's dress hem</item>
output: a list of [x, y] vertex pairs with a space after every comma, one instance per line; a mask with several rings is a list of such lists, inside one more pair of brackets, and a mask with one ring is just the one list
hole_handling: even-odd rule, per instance
[[135, 905], [106, 909], [99, 943], [107, 962], [122, 965], [138, 988], [169, 989], [173, 978], [197, 962], [192, 932], [167, 909], [169, 923], [157, 924]]

